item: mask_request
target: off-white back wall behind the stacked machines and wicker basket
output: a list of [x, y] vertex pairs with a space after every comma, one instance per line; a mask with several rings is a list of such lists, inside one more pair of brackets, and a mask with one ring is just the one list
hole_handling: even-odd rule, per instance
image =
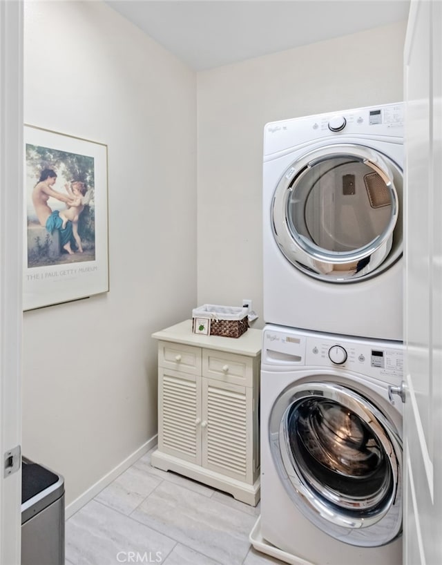
[[198, 73], [198, 303], [253, 300], [262, 327], [267, 122], [403, 99], [406, 23]]

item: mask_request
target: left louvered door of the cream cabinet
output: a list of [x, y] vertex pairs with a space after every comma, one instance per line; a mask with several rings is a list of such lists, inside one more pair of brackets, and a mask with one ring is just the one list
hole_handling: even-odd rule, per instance
[[158, 368], [158, 449], [201, 463], [201, 377]]

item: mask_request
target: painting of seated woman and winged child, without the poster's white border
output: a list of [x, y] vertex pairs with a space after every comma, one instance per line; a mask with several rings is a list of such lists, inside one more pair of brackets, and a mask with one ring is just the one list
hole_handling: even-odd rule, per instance
[[28, 267], [95, 260], [93, 157], [26, 144], [26, 166]]

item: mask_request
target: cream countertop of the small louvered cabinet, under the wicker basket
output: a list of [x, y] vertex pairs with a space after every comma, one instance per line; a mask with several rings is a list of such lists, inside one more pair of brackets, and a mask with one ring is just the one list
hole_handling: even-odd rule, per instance
[[218, 349], [227, 353], [236, 353], [256, 357], [261, 352], [262, 330], [247, 329], [247, 332], [239, 338], [227, 338], [223, 336], [203, 336], [192, 332], [192, 320], [184, 320], [179, 324], [166, 327], [160, 332], [155, 332], [152, 337], [161, 341], [173, 341], [184, 345], [195, 345], [195, 347], [206, 347], [207, 349]]

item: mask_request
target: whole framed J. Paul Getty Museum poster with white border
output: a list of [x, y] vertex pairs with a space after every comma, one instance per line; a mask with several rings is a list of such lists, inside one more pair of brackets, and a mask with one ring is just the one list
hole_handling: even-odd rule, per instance
[[28, 125], [23, 137], [23, 309], [107, 292], [107, 146]]

